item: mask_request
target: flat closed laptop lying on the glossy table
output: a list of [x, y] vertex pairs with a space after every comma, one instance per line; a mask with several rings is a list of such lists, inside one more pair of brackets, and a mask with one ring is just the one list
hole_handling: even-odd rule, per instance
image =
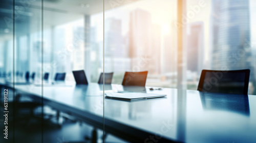
[[141, 93], [141, 92], [107, 92], [105, 93], [105, 98], [122, 100], [122, 101], [136, 101], [136, 100], [147, 100], [147, 99], [156, 99], [164, 98], [165, 94], [152, 94], [152, 93]]

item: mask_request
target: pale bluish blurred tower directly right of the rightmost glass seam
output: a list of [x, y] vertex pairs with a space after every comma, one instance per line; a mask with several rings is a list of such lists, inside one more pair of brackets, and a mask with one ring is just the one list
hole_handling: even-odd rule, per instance
[[110, 17], [105, 20], [105, 71], [123, 74], [130, 70], [127, 47], [123, 44], [121, 19]]

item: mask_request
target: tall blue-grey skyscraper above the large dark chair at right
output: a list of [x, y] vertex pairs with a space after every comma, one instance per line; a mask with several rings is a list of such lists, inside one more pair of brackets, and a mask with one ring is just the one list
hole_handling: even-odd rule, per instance
[[[212, 1], [212, 68], [244, 69], [251, 66], [249, 1]], [[251, 75], [252, 76], [252, 75]]]

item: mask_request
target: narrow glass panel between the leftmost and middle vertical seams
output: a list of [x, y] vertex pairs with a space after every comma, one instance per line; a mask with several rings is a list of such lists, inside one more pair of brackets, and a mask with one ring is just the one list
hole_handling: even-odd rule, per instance
[[[32, 140], [43, 139], [43, 127], [40, 118], [42, 113], [43, 97], [42, 89], [34, 88], [33, 78], [41, 79], [42, 70], [42, 15], [41, 0], [36, 1], [15, 1], [15, 112], [14, 113], [14, 134], [15, 142], [24, 142], [19, 138], [23, 136], [26, 129], [31, 131], [28, 135]], [[34, 34], [34, 35], [33, 35]], [[33, 37], [32, 37], [33, 36]], [[33, 51], [33, 53], [32, 53]], [[33, 74], [34, 73], [34, 74]], [[32, 76], [34, 75], [34, 76]], [[22, 92], [26, 91], [26, 92]], [[28, 96], [28, 93], [36, 91], [36, 97]], [[31, 117], [29, 117], [31, 116]], [[37, 116], [37, 117], [36, 117]], [[21, 118], [21, 119], [20, 119]], [[24, 118], [24, 119], [23, 119]], [[23, 119], [23, 120], [22, 120]], [[10, 125], [11, 126], [11, 125]], [[35, 136], [32, 132], [37, 132]], [[32, 141], [32, 142], [33, 142]]]

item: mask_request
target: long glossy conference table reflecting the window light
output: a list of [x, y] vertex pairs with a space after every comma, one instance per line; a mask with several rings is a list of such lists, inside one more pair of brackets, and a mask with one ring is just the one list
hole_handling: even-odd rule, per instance
[[[3, 81], [0, 85], [13, 88]], [[16, 92], [129, 142], [256, 142], [256, 96], [149, 88], [104, 86], [105, 92], [160, 93], [166, 98], [136, 102], [105, 99], [103, 85], [96, 83], [14, 87]]]

